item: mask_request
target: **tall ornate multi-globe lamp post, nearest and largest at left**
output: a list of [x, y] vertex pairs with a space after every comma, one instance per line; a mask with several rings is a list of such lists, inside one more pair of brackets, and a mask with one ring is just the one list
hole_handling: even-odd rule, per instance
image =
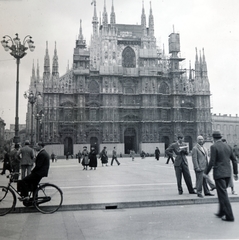
[[[11, 46], [8, 45], [8, 42], [10, 41]], [[28, 44], [28, 47], [26, 47], [26, 43]], [[1, 41], [1, 44], [5, 51], [11, 50], [10, 54], [16, 59], [17, 63], [17, 81], [16, 81], [16, 115], [15, 115], [15, 136], [14, 136], [14, 143], [19, 143], [19, 117], [18, 117], [18, 105], [19, 105], [19, 64], [20, 59], [23, 58], [27, 53], [26, 50], [29, 48], [30, 51], [34, 51], [35, 46], [33, 45], [32, 37], [30, 35], [27, 35], [23, 43], [21, 43], [20, 38], [18, 38], [18, 34], [16, 33], [15, 38], [11, 38], [8, 35], [5, 35], [3, 37], [3, 40]]]

